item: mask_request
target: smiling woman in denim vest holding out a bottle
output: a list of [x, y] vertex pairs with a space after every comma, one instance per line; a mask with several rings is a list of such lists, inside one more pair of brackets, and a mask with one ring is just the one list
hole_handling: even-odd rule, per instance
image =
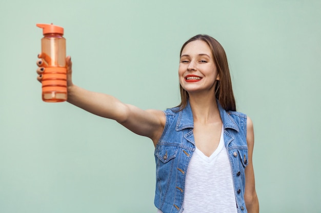
[[[43, 60], [37, 61], [38, 81]], [[69, 103], [153, 141], [157, 212], [258, 212], [253, 124], [236, 112], [226, 54], [214, 38], [196, 35], [184, 43], [178, 68], [182, 102], [165, 111], [142, 110], [78, 87], [70, 57], [66, 62]]]

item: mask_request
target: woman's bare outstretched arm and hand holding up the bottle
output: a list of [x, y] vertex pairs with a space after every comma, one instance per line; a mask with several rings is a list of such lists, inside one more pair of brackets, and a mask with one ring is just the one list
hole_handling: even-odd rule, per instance
[[[42, 55], [39, 54], [38, 57], [42, 58]], [[45, 64], [43, 59], [37, 61], [38, 81], [42, 80], [42, 73], [46, 69]], [[166, 118], [163, 111], [142, 110], [133, 105], [124, 104], [108, 94], [78, 87], [72, 83], [72, 62], [69, 56], [66, 58], [66, 65], [69, 103], [98, 116], [115, 120], [132, 132], [151, 138], [156, 145], [165, 126]]]

